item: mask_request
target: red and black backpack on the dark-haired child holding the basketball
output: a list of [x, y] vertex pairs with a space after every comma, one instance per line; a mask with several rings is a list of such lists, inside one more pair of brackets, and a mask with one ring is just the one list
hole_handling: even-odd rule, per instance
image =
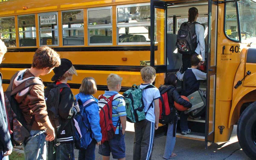
[[173, 120], [174, 116], [170, 113], [170, 105], [168, 102], [168, 95], [167, 91], [169, 91], [173, 86], [160, 87], [159, 92], [161, 97], [159, 98], [159, 123], [161, 124], [168, 124], [170, 121]]

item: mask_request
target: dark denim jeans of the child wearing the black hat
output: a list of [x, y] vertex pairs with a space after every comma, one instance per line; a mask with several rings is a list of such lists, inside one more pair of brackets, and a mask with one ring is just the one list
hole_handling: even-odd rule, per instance
[[56, 160], [63, 160], [63, 159], [74, 160], [75, 159], [74, 148], [75, 148], [75, 145], [73, 141], [60, 143], [60, 145], [56, 147]]

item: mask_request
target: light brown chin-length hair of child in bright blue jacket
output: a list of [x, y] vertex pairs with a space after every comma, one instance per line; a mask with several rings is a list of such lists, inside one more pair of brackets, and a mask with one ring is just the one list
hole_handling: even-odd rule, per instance
[[[94, 81], [94, 83], [93, 83], [93, 81]], [[96, 85], [95, 79], [92, 77], [84, 78], [82, 81], [82, 84], [79, 88], [79, 93], [95, 94], [96, 92], [97, 92], [97, 85]]]

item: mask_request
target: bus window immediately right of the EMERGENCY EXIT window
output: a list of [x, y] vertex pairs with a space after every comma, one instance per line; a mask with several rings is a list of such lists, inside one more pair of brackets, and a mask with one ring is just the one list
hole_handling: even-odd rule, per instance
[[62, 11], [63, 46], [83, 46], [83, 10]]

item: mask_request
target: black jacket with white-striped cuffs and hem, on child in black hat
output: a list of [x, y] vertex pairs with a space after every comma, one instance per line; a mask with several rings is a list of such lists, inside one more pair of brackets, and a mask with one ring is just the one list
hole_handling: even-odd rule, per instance
[[[55, 82], [56, 83], [56, 82]], [[56, 137], [57, 142], [70, 142], [74, 140], [73, 117], [77, 111], [74, 106], [74, 96], [70, 88], [60, 90], [59, 119], [60, 127]]]

